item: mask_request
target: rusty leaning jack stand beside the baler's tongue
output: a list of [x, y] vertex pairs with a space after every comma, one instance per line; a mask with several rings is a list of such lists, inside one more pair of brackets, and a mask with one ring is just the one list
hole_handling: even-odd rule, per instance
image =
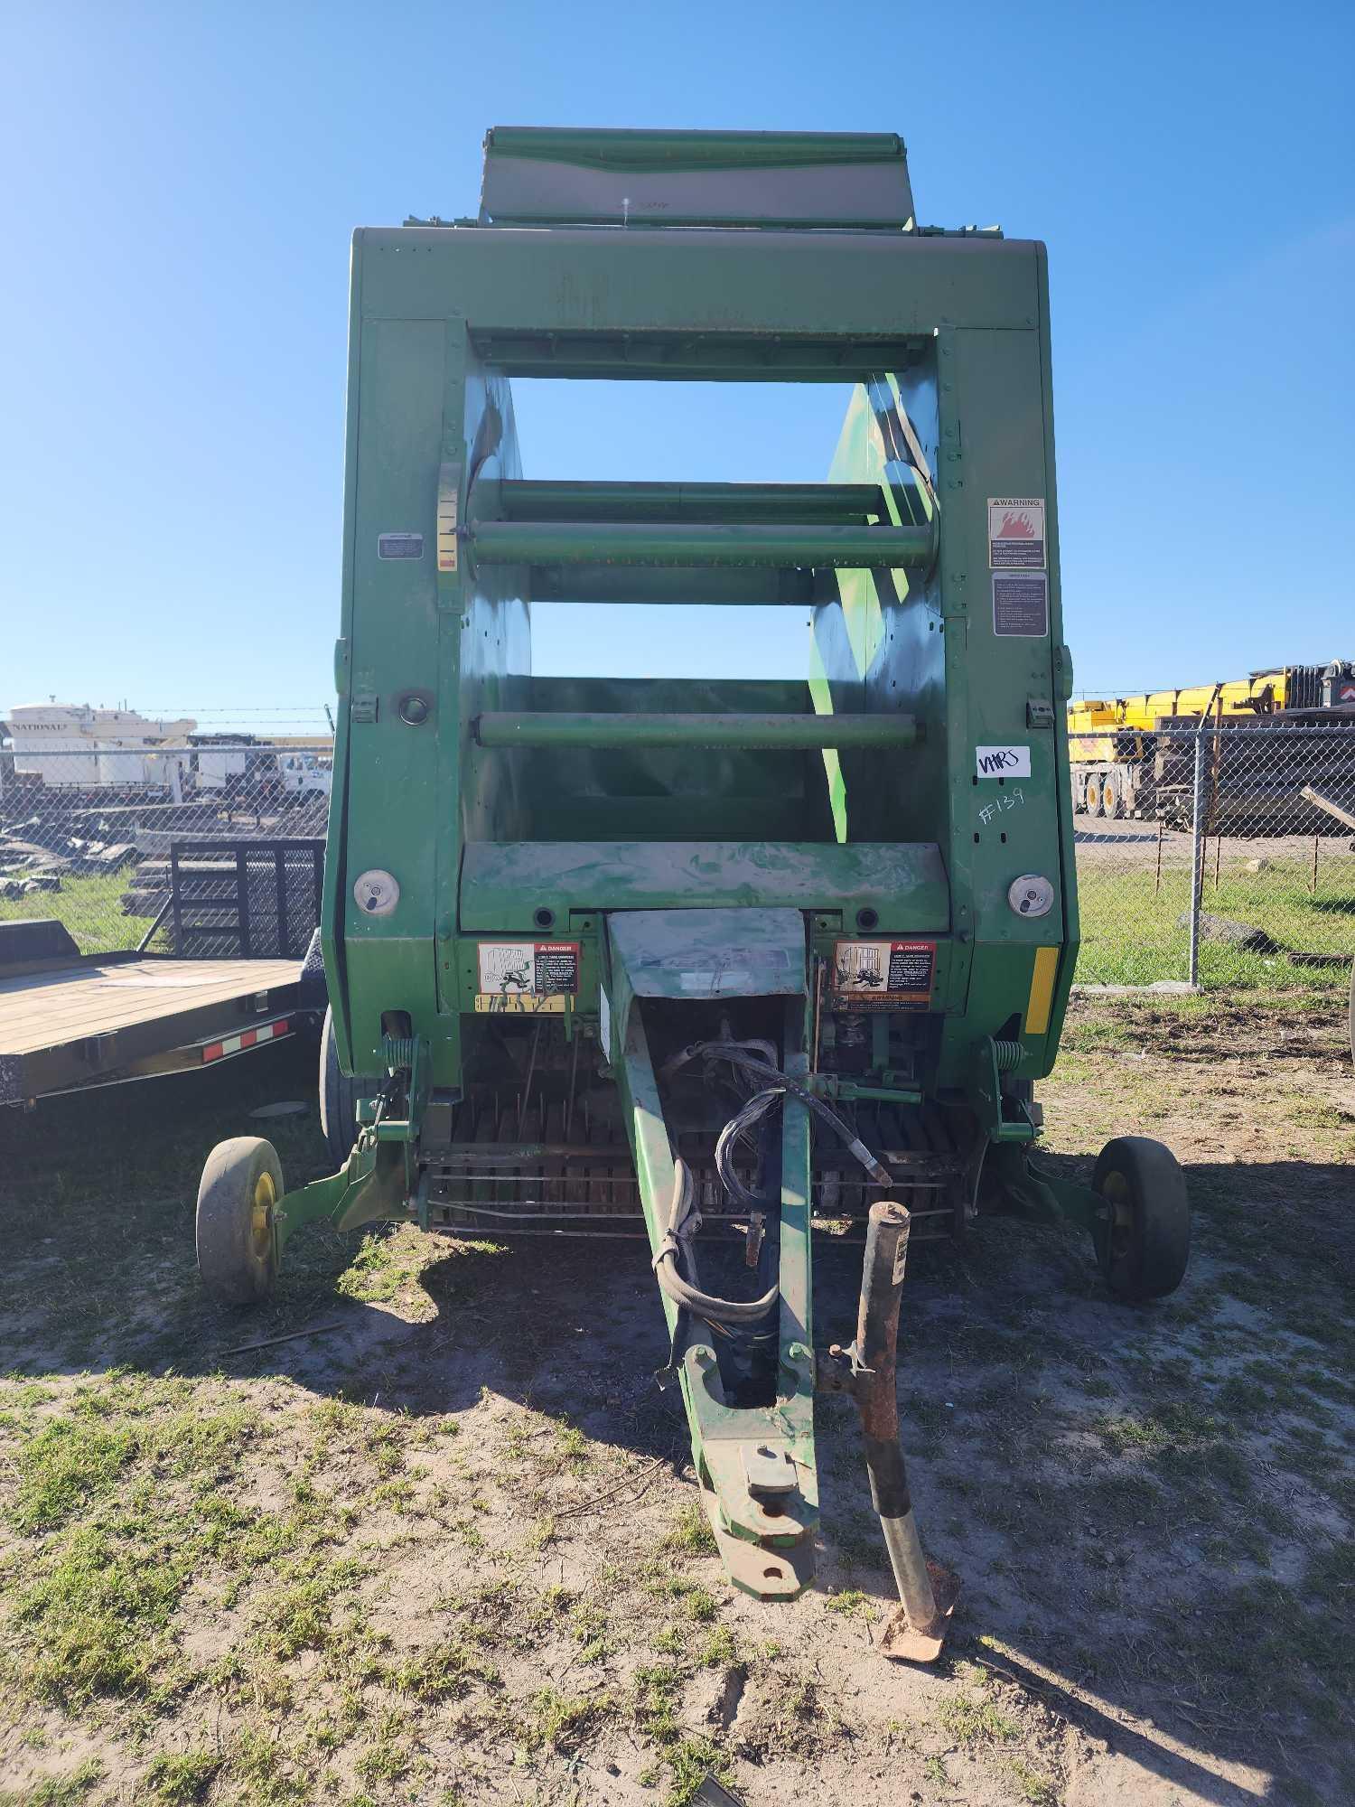
[[856, 1341], [849, 1350], [835, 1344], [831, 1353], [851, 1361], [849, 1375], [840, 1375], [836, 1384], [851, 1393], [862, 1415], [871, 1502], [880, 1514], [902, 1603], [883, 1624], [880, 1650], [903, 1662], [934, 1662], [945, 1644], [959, 1579], [921, 1552], [898, 1440], [894, 1372], [909, 1227], [905, 1205], [883, 1198], [871, 1205]]

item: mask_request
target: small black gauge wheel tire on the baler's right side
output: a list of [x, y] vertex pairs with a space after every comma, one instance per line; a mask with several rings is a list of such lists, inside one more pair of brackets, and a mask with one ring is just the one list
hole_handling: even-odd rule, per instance
[[1162, 1142], [1117, 1135], [1091, 1185], [1115, 1211], [1098, 1238], [1106, 1285], [1120, 1299], [1165, 1299], [1191, 1259], [1191, 1200], [1182, 1164]]

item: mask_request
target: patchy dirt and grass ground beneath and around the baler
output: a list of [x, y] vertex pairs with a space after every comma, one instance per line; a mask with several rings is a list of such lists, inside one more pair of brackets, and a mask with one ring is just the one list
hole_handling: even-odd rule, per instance
[[[309, 1072], [0, 1120], [0, 1802], [748, 1807], [1355, 1800], [1355, 1091], [1308, 994], [1075, 1003], [1048, 1160], [1144, 1131], [1191, 1272], [1111, 1303], [1073, 1232], [911, 1256], [900, 1400], [936, 1670], [883, 1662], [858, 1433], [820, 1402], [818, 1583], [735, 1594], [641, 1241], [298, 1236], [211, 1305], [208, 1146], [323, 1167]], [[817, 1341], [856, 1258], [817, 1254]], [[293, 1330], [309, 1334], [242, 1348]]]

